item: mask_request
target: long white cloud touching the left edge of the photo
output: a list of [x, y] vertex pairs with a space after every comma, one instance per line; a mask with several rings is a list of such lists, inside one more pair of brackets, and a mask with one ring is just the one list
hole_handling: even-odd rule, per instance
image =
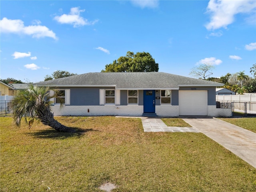
[[46, 26], [24, 26], [24, 22], [20, 19], [11, 20], [4, 17], [2, 20], [0, 20], [0, 29], [2, 33], [25, 34], [31, 35], [32, 38], [51, 37], [57, 39], [56, 34]]

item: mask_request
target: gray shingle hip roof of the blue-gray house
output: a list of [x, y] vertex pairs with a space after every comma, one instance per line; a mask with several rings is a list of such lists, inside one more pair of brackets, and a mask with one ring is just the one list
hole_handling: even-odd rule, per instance
[[223, 86], [224, 84], [164, 72], [86, 73], [36, 83], [38, 86], [115, 86], [125, 88], [179, 88], [180, 86]]

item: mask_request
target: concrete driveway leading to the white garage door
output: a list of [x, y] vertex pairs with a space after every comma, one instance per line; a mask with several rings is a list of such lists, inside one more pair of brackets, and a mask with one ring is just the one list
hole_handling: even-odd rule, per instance
[[218, 118], [206, 116], [180, 116], [180, 118], [256, 168], [256, 133]]

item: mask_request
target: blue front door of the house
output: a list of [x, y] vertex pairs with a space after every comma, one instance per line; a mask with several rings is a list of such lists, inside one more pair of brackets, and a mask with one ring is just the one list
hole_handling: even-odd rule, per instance
[[155, 90], [144, 90], [143, 105], [144, 113], [155, 112]]

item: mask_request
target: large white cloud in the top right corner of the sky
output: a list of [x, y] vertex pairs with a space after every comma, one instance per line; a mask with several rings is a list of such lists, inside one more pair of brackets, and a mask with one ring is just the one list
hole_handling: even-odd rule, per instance
[[208, 30], [226, 28], [234, 22], [238, 13], [250, 13], [256, 8], [255, 0], [210, 0], [207, 13], [211, 15], [210, 22], [206, 24]]

